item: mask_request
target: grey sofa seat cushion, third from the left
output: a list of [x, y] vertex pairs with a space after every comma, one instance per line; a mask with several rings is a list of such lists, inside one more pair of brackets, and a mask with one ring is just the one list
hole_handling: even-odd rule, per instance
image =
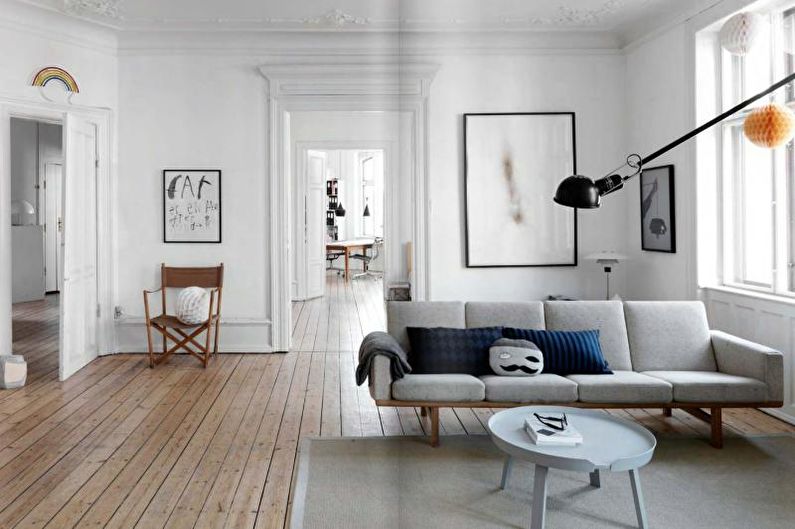
[[673, 386], [665, 380], [635, 373], [613, 371], [612, 375], [569, 375], [577, 383], [581, 402], [657, 403], [671, 402]]

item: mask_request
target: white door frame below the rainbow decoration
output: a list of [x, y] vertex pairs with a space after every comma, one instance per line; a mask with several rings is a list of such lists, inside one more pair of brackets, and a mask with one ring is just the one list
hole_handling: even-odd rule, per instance
[[[10, 195], [11, 164], [10, 139], [11, 118], [58, 122], [66, 133], [66, 116], [72, 114], [90, 121], [97, 127], [97, 297], [99, 321], [97, 325], [100, 354], [115, 351], [115, 329], [113, 305], [116, 284], [116, 260], [113, 254], [116, 219], [115, 183], [112, 178], [115, 167], [113, 149], [113, 112], [102, 107], [59, 103], [42, 100], [40, 95], [14, 97], [0, 94], [0, 196]], [[64, 157], [66, 153], [64, 153]], [[68, 160], [64, 158], [64, 164]], [[64, 182], [68, 185], [68, 182]], [[11, 338], [11, 213], [10, 201], [0, 200], [0, 355], [12, 354]], [[67, 221], [68, 222], [68, 221]], [[61, 380], [72, 373], [59, 369]]]

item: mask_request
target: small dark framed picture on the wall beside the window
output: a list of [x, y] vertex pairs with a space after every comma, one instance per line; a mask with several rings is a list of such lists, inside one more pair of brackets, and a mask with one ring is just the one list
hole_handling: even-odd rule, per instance
[[676, 253], [674, 166], [643, 169], [640, 174], [641, 248]]

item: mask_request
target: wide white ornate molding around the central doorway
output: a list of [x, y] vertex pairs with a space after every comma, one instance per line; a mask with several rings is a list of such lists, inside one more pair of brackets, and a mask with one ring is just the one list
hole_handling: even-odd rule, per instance
[[[398, 111], [411, 114], [412, 297], [429, 299], [428, 98], [437, 64], [404, 63], [395, 57], [302, 57], [301, 62], [263, 64], [268, 101], [270, 191], [270, 305], [274, 351], [290, 347], [290, 220], [292, 199], [290, 112]], [[359, 61], [359, 62], [357, 62]], [[406, 171], [408, 172], [408, 171]]]

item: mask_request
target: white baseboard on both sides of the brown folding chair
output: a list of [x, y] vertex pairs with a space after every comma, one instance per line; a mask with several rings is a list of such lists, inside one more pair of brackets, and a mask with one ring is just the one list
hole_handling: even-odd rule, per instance
[[[265, 318], [229, 318], [221, 320], [221, 353], [271, 353], [271, 322]], [[162, 347], [160, 335], [152, 337], [155, 348]], [[145, 353], [149, 348], [142, 318], [125, 318], [116, 322], [117, 353]]]

